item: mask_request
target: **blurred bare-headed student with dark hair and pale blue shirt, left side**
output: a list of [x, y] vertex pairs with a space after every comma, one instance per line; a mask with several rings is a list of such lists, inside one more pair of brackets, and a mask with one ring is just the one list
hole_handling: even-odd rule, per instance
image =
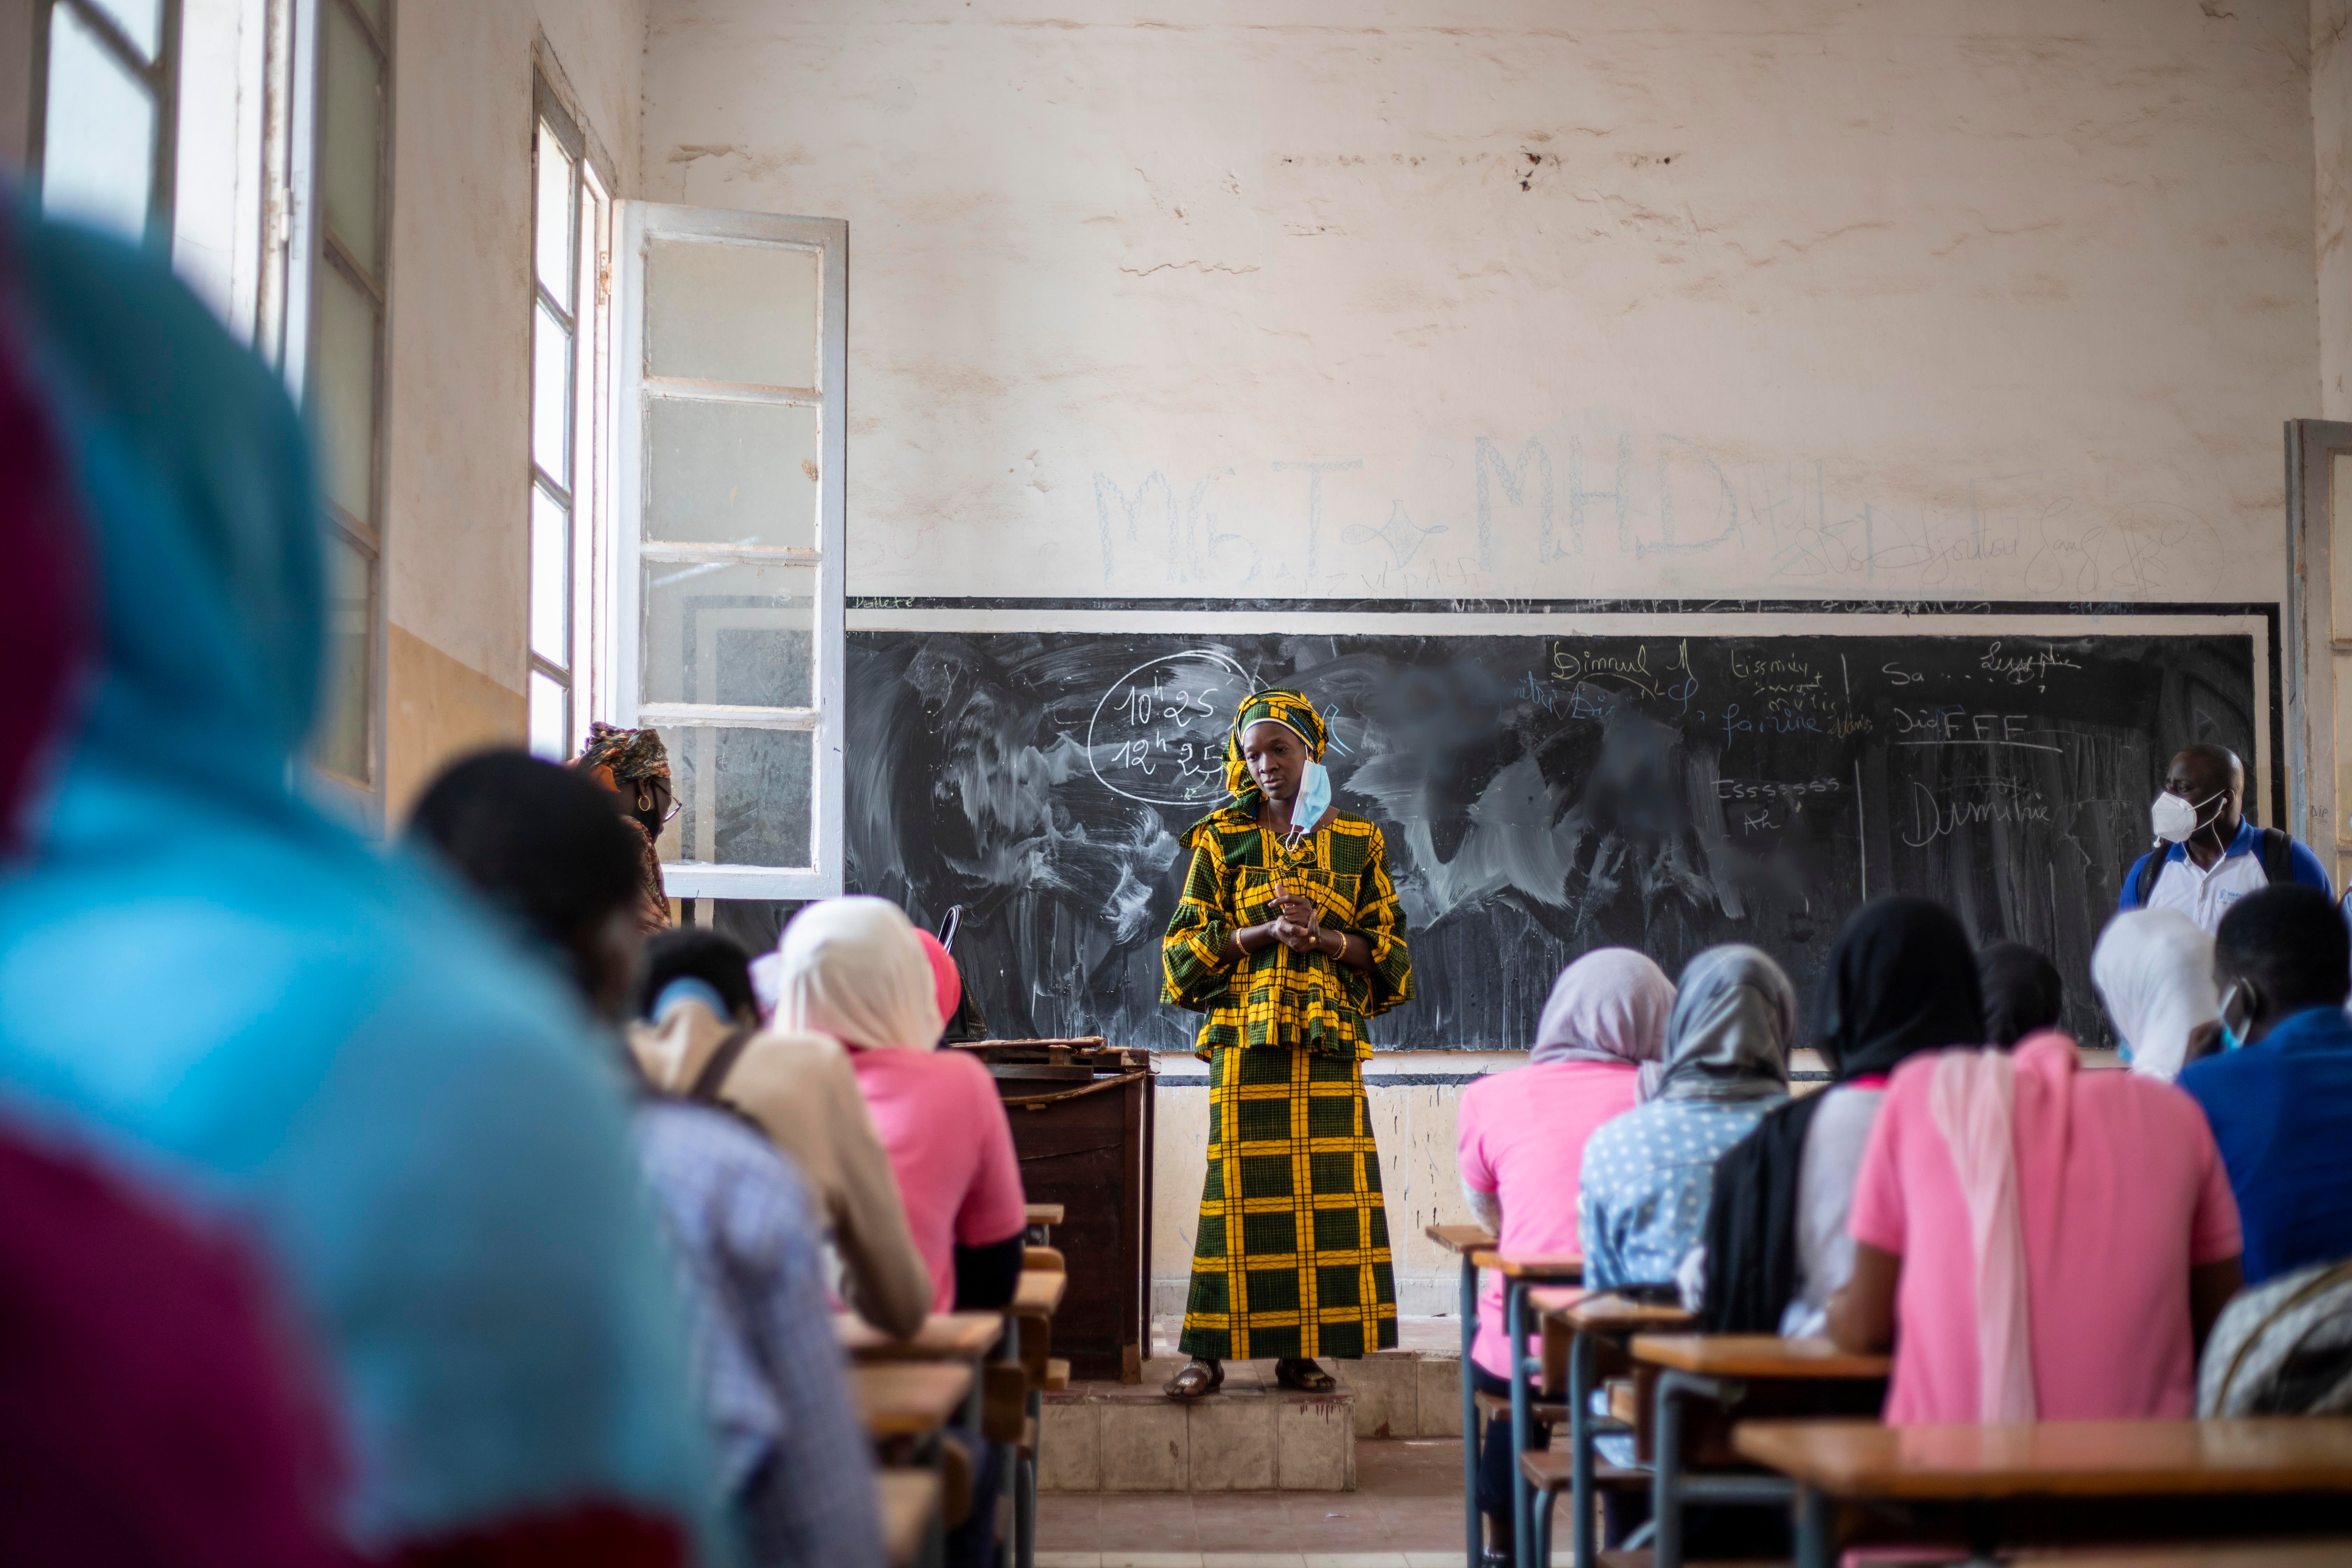
[[[541, 943], [607, 1025], [621, 1020], [640, 938], [637, 846], [593, 783], [485, 752], [423, 792], [409, 832]], [[715, 1107], [649, 1095], [635, 1126], [677, 1248], [694, 1382], [746, 1556], [762, 1568], [880, 1563], [873, 1469], [800, 1178]]]

